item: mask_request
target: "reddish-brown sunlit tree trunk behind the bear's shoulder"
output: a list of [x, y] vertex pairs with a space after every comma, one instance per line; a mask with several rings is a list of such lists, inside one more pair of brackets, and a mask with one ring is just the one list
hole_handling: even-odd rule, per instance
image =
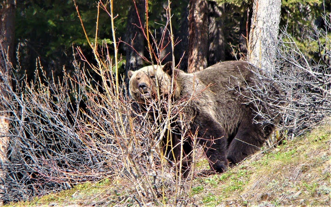
[[207, 0], [190, 0], [188, 73], [207, 67], [208, 55], [208, 3]]

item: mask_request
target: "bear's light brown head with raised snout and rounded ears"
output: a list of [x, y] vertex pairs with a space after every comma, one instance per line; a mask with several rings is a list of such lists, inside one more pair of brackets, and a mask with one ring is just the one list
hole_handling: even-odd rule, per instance
[[167, 62], [163, 67], [154, 65], [137, 71], [128, 71], [131, 97], [137, 102], [149, 101], [157, 97], [158, 86], [160, 95], [168, 96], [171, 90], [172, 73], [172, 62]]

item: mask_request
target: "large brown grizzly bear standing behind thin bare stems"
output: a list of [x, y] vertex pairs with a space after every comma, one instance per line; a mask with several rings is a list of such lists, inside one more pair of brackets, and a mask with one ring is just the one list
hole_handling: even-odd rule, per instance
[[[257, 152], [275, 129], [274, 124], [262, 125], [253, 120], [259, 119], [257, 110], [270, 111], [267, 105], [257, 107], [249, 99], [247, 86], [257, 85], [257, 71], [248, 62], [226, 61], [188, 74], [172, 69], [172, 63], [168, 62], [163, 67], [155, 65], [128, 71], [129, 92], [143, 111], [147, 111], [151, 100], [157, 100], [158, 88], [163, 97], [171, 95], [175, 102], [185, 100], [185, 120], [192, 134], [198, 135], [197, 141], [203, 146], [212, 171], [224, 172], [229, 163], [236, 164]], [[274, 86], [272, 93], [281, 93], [276, 84], [271, 85]], [[279, 115], [271, 113], [270, 116], [273, 123], [280, 121]], [[164, 138], [165, 146], [171, 147], [164, 151], [175, 162], [181, 153], [184, 155], [181, 170], [187, 177], [193, 140], [186, 138], [180, 145], [181, 128], [174, 123], [171, 140]]]

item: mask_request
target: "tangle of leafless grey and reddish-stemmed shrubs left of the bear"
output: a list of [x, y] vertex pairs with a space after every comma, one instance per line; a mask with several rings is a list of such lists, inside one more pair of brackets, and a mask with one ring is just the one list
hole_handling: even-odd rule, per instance
[[[102, 3], [99, 6], [106, 9]], [[163, 45], [156, 37], [151, 39], [156, 47]], [[33, 80], [20, 74], [18, 66], [12, 68], [14, 75], [1, 83], [8, 94], [1, 96], [1, 101], [10, 115], [11, 143], [9, 161], [0, 166], [4, 172], [0, 199], [25, 200], [77, 183], [109, 179], [106, 191], [121, 190], [120, 196], [124, 194], [131, 203], [186, 202], [183, 193], [189, 188], [181, 186], [189, 180], [181, 179], [180, 166], [168, 164], [161, 141], [170, 136], [173, 117], [183, 117], [182, 108], [188, 100], [174, 104], [159, 96], [151, 111], [162, 113], [154, 113], [155, 122], [151, 122], [148, 113], [140, 112], [125, 95], [128, 92], [118, 74], [117, 56], [111, 58], [107, 45], [91, 44], [91, 48], [95, 65], [76, 48], [81, 60], [75, 60], [75, 70], [64, 71], [64, 77], [48, 79], [37, 61]], [[159, 54], [163, 49], [156, 51]], [[151, 51], [151, 58], [158, 60], [158, 54]], [[188, 134], [184, 117], [177, 120], [182, 141], [195, 139], [194, 134]], [[195, 151], [192, 157], [194, 164]], [[121, 200], [120, 196], [114, 200]]]

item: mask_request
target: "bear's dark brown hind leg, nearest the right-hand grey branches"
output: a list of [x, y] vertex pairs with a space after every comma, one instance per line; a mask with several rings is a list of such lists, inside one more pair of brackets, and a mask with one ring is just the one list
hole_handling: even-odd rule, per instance
[[260, 126], [254, 123], [241, 123], [227, 150], [230, 166], [259, 151], [266, 140], [263, 134]]

